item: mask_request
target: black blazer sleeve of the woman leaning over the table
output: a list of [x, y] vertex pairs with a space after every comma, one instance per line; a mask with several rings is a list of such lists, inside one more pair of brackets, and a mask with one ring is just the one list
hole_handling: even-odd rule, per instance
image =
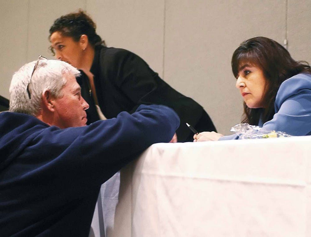
[[180, 118], [180, 127], [176, 131], [179, 142], [193, 141], [193, 134], [186, 123], [199, 132], [216, 131], [201, 105], [170, 87], [142, 58], [130, 51], [120, 50], [115, 54], [115, 62], [115, 83], [136, 105], [131, 112], [140, 104], [162, 104], [174, 109]]

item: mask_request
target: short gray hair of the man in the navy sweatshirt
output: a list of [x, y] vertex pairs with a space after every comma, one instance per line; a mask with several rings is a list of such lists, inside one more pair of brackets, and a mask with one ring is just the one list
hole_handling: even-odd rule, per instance
[[[41, 109], [42, 94], [49, 90], [53, 96], [62, 97], [66, 75], [80, 75], [78, 69], [60, 60], [40, 59], [22, 66], [12, 77], [10, 85], [10, 111], [36, 116]], [[29, 84], [30, 98], [27, 93]]]

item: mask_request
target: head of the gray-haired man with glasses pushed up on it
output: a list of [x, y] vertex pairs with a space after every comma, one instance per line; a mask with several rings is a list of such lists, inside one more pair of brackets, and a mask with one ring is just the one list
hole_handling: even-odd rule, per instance
[[76, 82], [79, 74], [79, 70], [68, 63], [39, 56], [37, 62], [24, 65], [14, 74], [10, 111], [33, 115], [59, 128], [86, 125], [85, 110], [89, 105], [81, 97], [81, 88]]

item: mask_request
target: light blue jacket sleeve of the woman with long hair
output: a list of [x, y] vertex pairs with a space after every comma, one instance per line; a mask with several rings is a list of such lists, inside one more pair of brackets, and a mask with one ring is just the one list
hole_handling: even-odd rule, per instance
[[298, 74], [285, 80], [277, 94], [273, 119], [264, 123], [268, 130], [293, 136], [311, 135], [311, 75]]

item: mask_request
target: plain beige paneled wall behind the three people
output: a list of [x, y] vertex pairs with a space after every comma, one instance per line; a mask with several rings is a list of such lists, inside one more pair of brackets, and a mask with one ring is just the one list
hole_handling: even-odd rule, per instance
[[266, 36], [311, 63], [311, 0], [2, 0], [0, 95], [12, 74], [39, 54], [52, 58], [48, 30], [57, 17], [85, 9], [109, 46], [141, 56], [172, 87], [194, 98], [219, 132], [239, 123], [242, 100], [230, 59], [243, 40]]

